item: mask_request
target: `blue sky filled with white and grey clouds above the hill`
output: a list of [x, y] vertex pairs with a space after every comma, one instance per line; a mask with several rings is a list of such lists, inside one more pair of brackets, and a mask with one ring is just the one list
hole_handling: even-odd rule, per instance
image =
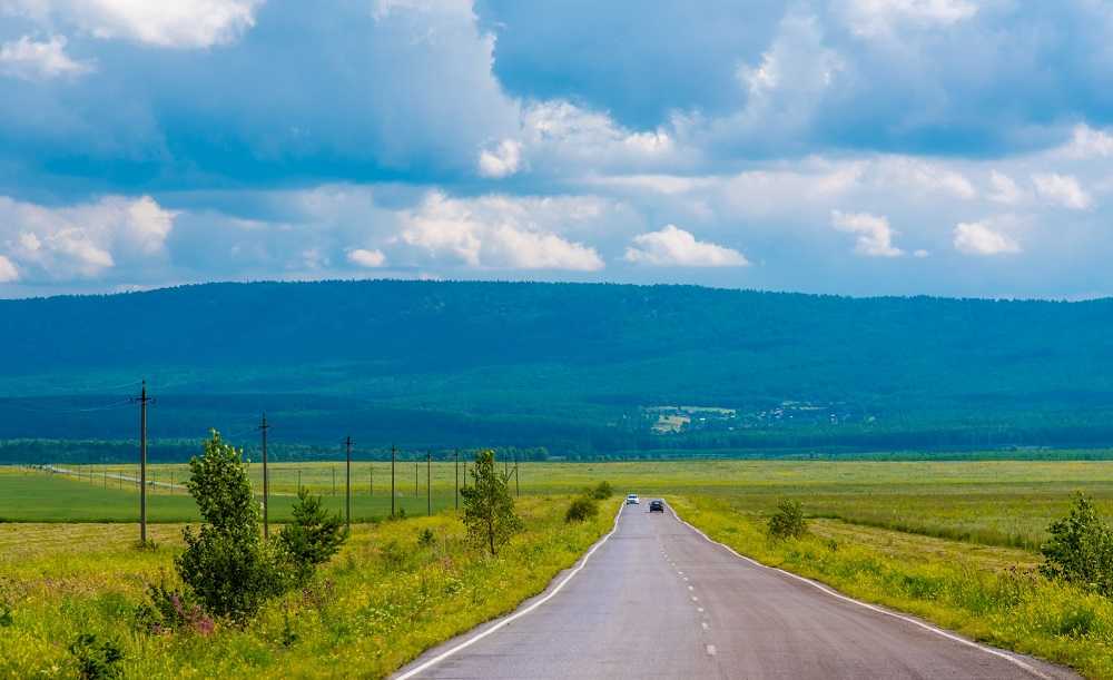
[[0, 0], [0, 297], [1113, 295], [1106, 0]]

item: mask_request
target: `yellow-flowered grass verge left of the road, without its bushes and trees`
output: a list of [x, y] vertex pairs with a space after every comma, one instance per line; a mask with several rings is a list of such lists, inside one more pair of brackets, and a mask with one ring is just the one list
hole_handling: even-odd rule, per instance
[[[159, 526], [155, 550], [131, 546], [126, 526], [3, 526], [0, 602], [12, 621], [0, 628], [0, 677], [75, 677], [66, 648], [82, 632], [120, 644], [127, 678], [383, 677], [541, 592], [613, 523], [608, 507], [567, 524], [568, 500], [523, 499], [525, 531], [495, 558], [469, 546], [453, 513], [355, 525], [311, 587], [208, 634], [134, 625], [146, 583], [174, 573], [179, 526]], [[425, 529], [433, 541], [420, 545]]]

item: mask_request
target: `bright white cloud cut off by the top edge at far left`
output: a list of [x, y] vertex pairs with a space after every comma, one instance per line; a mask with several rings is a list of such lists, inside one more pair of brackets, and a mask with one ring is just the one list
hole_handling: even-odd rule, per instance
[[255, 26], [264, 0], [2, 0], [0, 9], [40, 23], [72, 24], [102, 39], [159, 47], [207, 48]]

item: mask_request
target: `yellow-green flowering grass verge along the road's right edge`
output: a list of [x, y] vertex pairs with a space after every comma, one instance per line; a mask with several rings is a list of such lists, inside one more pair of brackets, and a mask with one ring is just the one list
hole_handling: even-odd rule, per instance
[[[1023, 553], [969, 555], [940, 539], [904, 534], [886, 544], [879, 530], [812, 522], [800, 539], [770, 540], [760, 518], [721, 499], [671, 497], [681, 518], [716, 541], [769, 566], [827, 583], [867, 602], [922, 617], [972, 639], [1113, 678], [1113, 601], [1052, 583]], [[841, 532], [841, 535], [839, 535]], [[916, 549], [917, 539], [925, 543]]]

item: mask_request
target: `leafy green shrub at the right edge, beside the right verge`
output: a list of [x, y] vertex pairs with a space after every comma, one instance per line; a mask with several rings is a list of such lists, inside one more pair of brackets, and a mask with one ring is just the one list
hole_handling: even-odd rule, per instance
[[1113, 597], [1113, 529], [1090, 499], [1080, 493], [1071, 514], [1052, 522], [1047, 533], [1051, 539], [1041, 548], [1040, 566], [1045, 576]]

